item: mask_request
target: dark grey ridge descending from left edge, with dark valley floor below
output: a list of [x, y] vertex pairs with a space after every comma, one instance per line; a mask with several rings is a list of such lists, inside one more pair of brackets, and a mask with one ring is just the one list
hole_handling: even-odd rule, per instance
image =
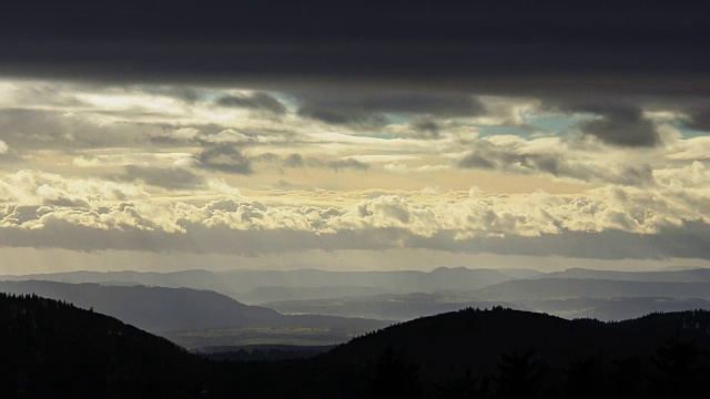
[[362, 318], [286, 316], [191, 288], [30, 280], [0, 282], [0, 291], [36, 294], [92, 308], [190, 348], [254, 342], [339, 344], [389, 325], [386, 320]]

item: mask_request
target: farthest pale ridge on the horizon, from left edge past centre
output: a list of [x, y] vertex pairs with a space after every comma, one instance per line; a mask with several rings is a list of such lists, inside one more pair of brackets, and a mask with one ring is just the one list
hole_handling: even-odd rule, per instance
[[209, 289], [234, 299], [257, 304], [286, 299], [322, 299], [384, 293], [433, 293], [474, 290], [539, 272], [525, 269], [469, 269], [439, 267], [432, 272], [327, 272], [297, 270], [184, 270], [174, 273], [70, 272], [29, 276], [0, 276], [0, 280], [48, 280], [100, 283], [102, 285], [145, 285]]

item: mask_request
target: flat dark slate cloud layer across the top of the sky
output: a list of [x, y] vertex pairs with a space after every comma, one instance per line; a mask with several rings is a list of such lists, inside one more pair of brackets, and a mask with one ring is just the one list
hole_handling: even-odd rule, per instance
[[2, 11], [4, 74], [534, 96], [710, 92], [710, 4], [700, 1], [80, 0]]

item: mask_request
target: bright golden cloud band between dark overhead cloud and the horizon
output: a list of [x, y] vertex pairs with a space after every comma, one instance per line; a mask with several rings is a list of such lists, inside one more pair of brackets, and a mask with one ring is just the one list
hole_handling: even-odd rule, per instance
[[706, 262], [710, 137], [672, 106], [605, 112], [426, 90], [4, 80], [0, 250]]

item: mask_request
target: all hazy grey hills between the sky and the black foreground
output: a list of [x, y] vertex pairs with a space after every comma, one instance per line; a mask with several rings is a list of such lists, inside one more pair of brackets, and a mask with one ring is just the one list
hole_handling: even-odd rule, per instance
[[[70, 288], [36, 282], [14, 291], [37, 290], [80, 306], [93, 306], [189, 347], [334, 344], [382, 327], [386, 323], [382, 320], [410, 320], [465, 307], [503, 305], [600, 320], [620, 320], [652, 311], [710, 309], [710, 269], [703, 268], [655, 272], [569, 268], [548, 274], [464, 267], [440, 267], [428, 273], [73, 272], [0, 278], [29, 277], [95, 283]], [[0, 283], [0, 290], [4, 284], [10, 282]], [[341, 318], [333, 318], [336, 316]]]

